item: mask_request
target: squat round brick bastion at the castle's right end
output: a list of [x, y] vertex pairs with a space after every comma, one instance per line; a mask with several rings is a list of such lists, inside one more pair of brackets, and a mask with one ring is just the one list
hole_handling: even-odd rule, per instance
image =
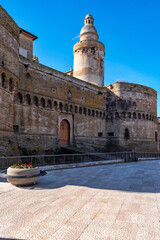
[[107, 87], [107, 135], [117, 149], [156, 151], [157, 93], [138, 84], [119, 82]]

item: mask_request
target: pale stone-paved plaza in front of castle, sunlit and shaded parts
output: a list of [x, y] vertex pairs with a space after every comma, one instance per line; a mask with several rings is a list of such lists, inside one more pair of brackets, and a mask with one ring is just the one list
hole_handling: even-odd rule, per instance
[[160, 239], [160, 161], [48, 171], [24, 188], [0, 180], [0, 239]]

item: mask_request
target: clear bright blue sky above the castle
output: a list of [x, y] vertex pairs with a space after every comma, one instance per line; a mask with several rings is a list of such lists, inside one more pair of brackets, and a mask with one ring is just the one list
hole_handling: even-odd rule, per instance
[[1, 0], [16, 23], [38, 36], [40, 63], [66, 72], [73, 66], [72, 40], [83, 19], [95, 19], [106, 48], [105, 85], [117, 80], [147, 85], [158, 92], [160, 116], [160, 0]]

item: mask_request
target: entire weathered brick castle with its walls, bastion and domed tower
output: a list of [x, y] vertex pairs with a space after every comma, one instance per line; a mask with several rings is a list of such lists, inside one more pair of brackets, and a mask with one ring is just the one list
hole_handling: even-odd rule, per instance
[[157, 93], [116, 82], [104, 86], [105, 48], [87, 15], [67, 73], [33, 57], [36, 36], [0, 6], [0, 155], [158, 151]]

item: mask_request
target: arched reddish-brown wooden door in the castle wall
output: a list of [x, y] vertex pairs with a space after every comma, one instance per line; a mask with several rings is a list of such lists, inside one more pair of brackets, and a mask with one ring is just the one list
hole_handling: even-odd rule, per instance
[[60, 124], [60, 145], [69, 145], [70, 124], [67, 120], [62, 120]]

